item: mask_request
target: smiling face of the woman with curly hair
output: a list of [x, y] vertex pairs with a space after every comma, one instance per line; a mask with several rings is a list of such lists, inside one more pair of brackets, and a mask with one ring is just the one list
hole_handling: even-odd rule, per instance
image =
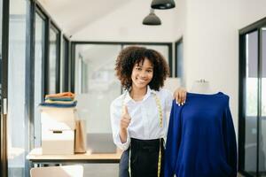
[[147, 58], [133, 66], [131, 73], [132, 89], [145, 89], [153, 80], [153, 64]]

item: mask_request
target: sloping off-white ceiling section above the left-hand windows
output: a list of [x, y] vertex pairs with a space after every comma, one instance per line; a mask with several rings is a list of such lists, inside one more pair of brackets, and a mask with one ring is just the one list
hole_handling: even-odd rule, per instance
[[39, 0], [51, 17], [68, 35], [105, 17], [132, 0]]

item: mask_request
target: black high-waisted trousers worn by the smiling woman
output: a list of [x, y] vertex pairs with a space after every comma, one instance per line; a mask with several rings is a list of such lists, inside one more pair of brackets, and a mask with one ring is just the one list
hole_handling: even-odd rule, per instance
[[163, 177], [163, 140], [138, 140], [134, 138], [131, 138], [131, 144], [129, 149], [125, 150], [121, 155], [119, 165], [119, 176], [129, 177], [130, 150], [131, 177], [158, 177], [158, 160], [160, 147], [160, 177]]

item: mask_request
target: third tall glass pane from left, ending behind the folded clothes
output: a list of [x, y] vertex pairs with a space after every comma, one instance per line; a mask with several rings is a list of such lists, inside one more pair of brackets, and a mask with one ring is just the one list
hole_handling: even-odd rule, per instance
[[58, 32], [55, 29], [50, 28], [50, 37], [49, 37], [49, 94], [56, 93], [56, 65], [57, 65], [57, 50], [58, 46], [57, 43], [59, 40]]

